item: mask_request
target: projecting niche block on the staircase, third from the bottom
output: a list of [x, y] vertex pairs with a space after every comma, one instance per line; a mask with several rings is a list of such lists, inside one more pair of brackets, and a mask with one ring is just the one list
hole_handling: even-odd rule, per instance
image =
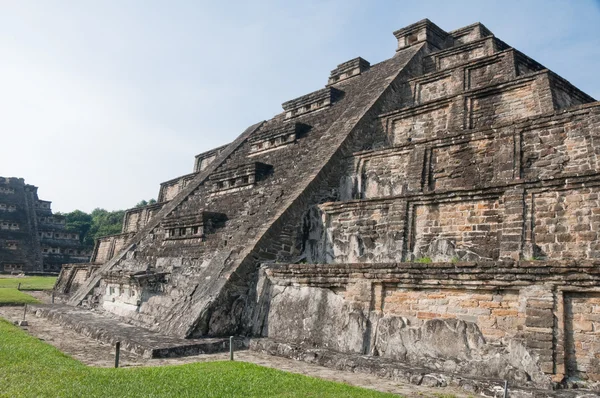
[[273, 166], [261, 162], [244, 164], [211, 174], [213, 194], [236, 192], [253, 187], [273, 172]]

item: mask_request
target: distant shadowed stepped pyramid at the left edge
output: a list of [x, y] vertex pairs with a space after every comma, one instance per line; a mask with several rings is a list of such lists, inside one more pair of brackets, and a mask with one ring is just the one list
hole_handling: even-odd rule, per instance
[[22, 178], [0, 177], [0, 272], [58, 272], [62, 264], [89, 261], [90, 250], [51, 204]]

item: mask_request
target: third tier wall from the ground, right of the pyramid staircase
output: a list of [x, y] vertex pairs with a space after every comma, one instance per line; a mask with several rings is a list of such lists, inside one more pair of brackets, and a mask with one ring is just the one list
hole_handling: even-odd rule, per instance
[[352, 191], [354, 199], [372, 199], [591, 173], [598, 167], [599, 127], [598, 105], [584, 105], [495, 131], [359, 152], [350, 167], [352, 189], [342, 191]]

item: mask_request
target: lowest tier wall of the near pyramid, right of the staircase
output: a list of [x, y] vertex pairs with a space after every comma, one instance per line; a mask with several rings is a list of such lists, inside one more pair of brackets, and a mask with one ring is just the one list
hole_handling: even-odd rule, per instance
[[519, 385], [597, 381], [597, 262], [271, 265], [264, 278], [274, 340]]

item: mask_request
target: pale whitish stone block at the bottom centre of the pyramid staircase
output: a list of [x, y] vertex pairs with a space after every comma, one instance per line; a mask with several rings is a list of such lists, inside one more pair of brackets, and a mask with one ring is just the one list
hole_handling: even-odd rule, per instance
[[105, 292], [102, 307], [117, 315], [138, 312], [151, 296], [160, 294], [169, 274], [154, 271], [109, 271], [103, 274]]

